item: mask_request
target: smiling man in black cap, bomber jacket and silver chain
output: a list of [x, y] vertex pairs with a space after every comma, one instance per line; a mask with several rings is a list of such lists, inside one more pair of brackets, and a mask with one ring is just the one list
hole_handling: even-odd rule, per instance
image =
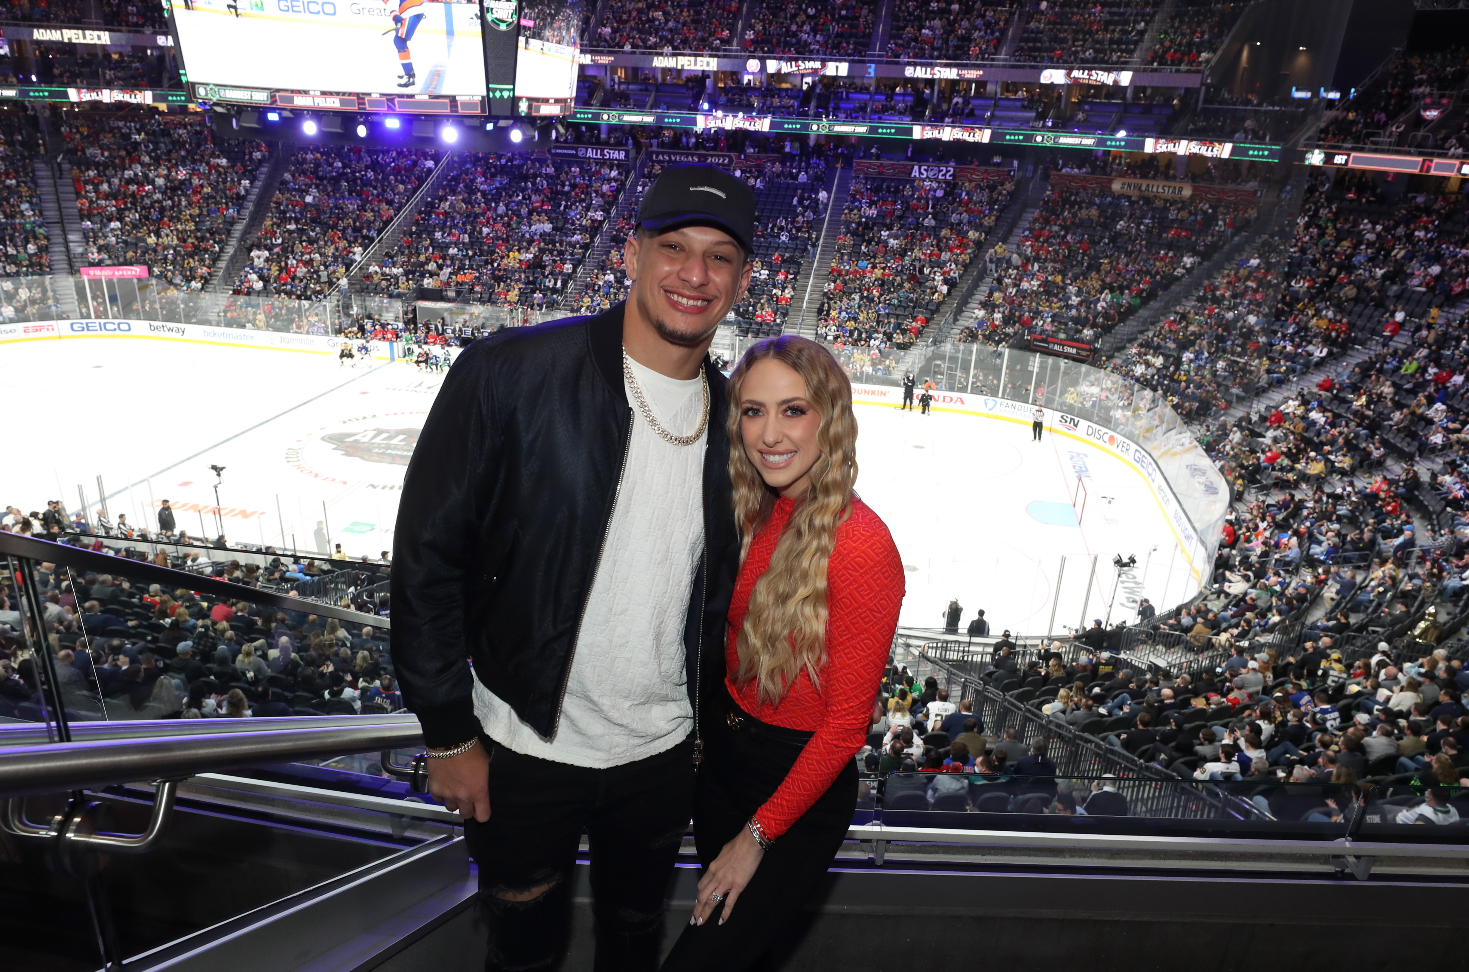
[[739, 537], [708, 347], [754, 228], [742, 181], [665, 167], [627, 301], [469, 347], [408, 465], [395, 674], [479, 863], [489, 969], [560, 960], [583, 833], [596, 966], [657, 966], [699, 718], [723, 715]]

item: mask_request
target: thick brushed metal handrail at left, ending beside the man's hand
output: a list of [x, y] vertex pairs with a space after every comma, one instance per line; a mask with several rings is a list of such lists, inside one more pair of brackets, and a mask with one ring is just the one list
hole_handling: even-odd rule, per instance
[[361, 715], [350, 725], [18, 746], [0, 750], [0, 799], [376, 753], [422, 741], [423, 728], [414, 715]]

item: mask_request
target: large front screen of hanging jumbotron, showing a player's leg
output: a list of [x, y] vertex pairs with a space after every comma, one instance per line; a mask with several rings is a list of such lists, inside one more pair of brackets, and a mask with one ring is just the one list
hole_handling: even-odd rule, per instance
[[200, 100], [483, 110], [477, 0], [178, 0], [172, 15]]

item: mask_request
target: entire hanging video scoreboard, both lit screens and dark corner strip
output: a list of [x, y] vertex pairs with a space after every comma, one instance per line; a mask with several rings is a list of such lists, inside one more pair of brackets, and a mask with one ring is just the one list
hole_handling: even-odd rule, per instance
[[570, 113], [582, 0], [175, 0], [198, 101], [328, 112]]

